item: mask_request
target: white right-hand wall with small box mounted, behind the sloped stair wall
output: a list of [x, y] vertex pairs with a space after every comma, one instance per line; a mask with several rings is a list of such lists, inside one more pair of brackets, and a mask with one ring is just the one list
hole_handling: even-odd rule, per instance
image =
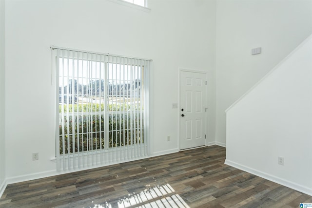
[[217, 144], [226, 144], [225, 110], [311, 33], [311, 0], [216, 2]]

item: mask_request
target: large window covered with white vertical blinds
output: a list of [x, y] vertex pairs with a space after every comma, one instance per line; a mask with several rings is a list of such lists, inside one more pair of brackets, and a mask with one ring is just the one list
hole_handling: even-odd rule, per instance
[[151, 60], [51, 48], [57, 71], [57, 170], [147, 156]]

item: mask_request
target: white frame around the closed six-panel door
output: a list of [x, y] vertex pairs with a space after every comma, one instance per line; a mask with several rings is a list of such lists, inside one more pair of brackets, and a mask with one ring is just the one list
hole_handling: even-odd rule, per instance
[[[177, 123], [177, 125], [178, 125], [178, 131], [177, 131], [177, 137], [178, 137], [178, 139], [177, 139], [177, 146], [178, 146], [178, 150], [179, 151], [181, 151], [181, 148], [180, 148], [180, 116], [181, 116], [181, 100], [180, 100], [180, 98], [181, 98], [181, 72], [191, 72], [191, 73], [202, 73], [202, 74], [205, 74], [205, 78], [206, 78], [206, 81], [207, 81], [207, 72], [205, 72], [205, 71], [200, 71], [200, 70], [193, 70], [193, 69], [187, 69], [187, 68], [181, 68], [181, 67], [179, 67], [179, 74], [178, 74], [178, 111], [177, 111], [177, 117], [178, 117], [178, 123]], [[206, 109], [208, 109], [207, 108], [207, 102], [208, 102], [208, 94], [207, 94], [207, 92], [208, 92], [208, 89], [207, 89], [207, 84], [206, 84]], [[206, 116], [205, 116], [205, 120], [206, 120], [206, 126], [205, 126], [205, 134], [207, 135], [207, 129], [208, 129], [208, 126], [207, 126], [207, 121], [208, 121], [208, 119], [207, 119], [207, 112], [206, 112]], [[208, 140], [208, 138], [206, 138], [206, 140], [205, 140], [205, 146], [207, 146], [207, 140]], [[195, 148], [190, 148], [190, 149], [188, 149], [188, 150], [191, 150], [191, 149], [196, 149], [197, 147], [195, 147]]]

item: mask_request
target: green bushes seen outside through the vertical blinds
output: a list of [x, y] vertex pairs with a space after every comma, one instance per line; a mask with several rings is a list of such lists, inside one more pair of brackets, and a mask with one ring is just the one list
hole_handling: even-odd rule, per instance
[[[143, 120], [137, 113], [139, 106], [110, 104], [107, 107], [108, 134], [104, 132], [106, 123], [103, 104], [59, 105], [59, 153], [144, 143]], [[64, 142], [62, 135], [65, 137]], [[106, 135], [108, 138], [105, 138]]]

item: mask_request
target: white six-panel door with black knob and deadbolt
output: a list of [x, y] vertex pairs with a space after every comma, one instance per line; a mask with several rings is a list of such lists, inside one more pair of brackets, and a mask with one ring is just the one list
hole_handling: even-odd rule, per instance
[[180, 71], [180, 150], [206, 145], [206, 74]]

